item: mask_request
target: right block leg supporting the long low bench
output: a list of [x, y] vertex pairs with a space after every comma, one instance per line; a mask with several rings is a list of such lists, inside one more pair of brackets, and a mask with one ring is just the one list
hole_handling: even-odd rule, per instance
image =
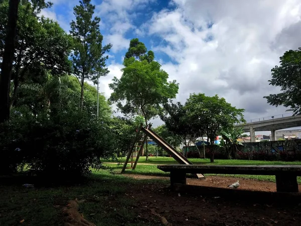
[[276, 188], [278, 192], [298, 192], [297, 176], [290, 174], [276, 175]]

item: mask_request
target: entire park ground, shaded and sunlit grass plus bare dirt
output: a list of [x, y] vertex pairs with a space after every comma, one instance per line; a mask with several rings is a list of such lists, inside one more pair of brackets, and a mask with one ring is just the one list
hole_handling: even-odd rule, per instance
[[[209, 160], [191, 161], [210, 164]], [[122, 166], [111, 161], [105, 165], [115, 174], [93, 171], [88, 180], [59, 186], [39, 184], [22, 175], [2, 177], [0, 225], [64, 225], [62, 209], [75, 199], [85, 200], [79, 212], [96, 225], [300, 225], [299, 194], [273, 196], [273, 176], [206, 175], [205, 180], [187, 180], [200, 189], [172, 191], [168, 174], [157, 169], [158, 164], [172, 163], [167, 157], [151, 157], [147, 162], [141, 157], [135, 171], [127, 169], [121, 175]], [[216, 160], [214, 164], [300, 162]], [[228, 189], [236, 180], [239, 189]], [[24, 187], [24, 183], [35, 183], [35, 187]], [[301, 191], [300, 178], [298, 183]]]

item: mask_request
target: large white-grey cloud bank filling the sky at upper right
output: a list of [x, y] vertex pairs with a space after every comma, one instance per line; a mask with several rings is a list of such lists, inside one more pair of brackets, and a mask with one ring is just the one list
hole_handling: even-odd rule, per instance
[[[174, 0], [174, 11], [156, 13], [148, 34], [167, 45], [154, 46], [177, 62], [165, 62], [170, 79], [180, 83], [177, 100], [189, 93], [219, 94], [245, 118], [282, 114], [262, 97], [279, 89], [269, 86], [270, 70], [288, 49], [296, 49], [301, 31], [297, 0]], [[208, 24], [213, 23], [212, 28]], [[208, 41], [208, 37], [212, 41]], [[162, 43], [162, 42], [161, 42]]]

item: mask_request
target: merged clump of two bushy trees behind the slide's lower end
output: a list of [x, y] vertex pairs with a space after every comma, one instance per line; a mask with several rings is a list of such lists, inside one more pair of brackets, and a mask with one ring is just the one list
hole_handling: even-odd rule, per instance
[[185, 146], [187, 141], [195, 143], [197, 138], [207, 136], [207, 142], [212, 146], [210, 153], [212, 162], [215, 153], [214, 140], [222, 128], [231, 128], [235, 123], [244, 122], [244, 109], [237, 109], [218, 95], [206, 96], [203, 93], [193, 93], [190, 94], [185, 105], [171, 102], [164, 104], [164, 109], [161, 119], [168, 130]]

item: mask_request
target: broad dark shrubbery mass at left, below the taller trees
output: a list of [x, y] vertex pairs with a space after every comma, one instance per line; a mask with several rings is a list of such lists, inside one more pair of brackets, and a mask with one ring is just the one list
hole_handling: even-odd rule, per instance
[[[6, 156], [1, 158], [0, 165], [16, 168], [17, 163], [24, 163], [47, 174], [78, 176], [89, 173], [91, 166], [99, 168], [100, 158], [112, 157], [110, 106], [100, 95], [103, 114], [101, 123], [95, 123], [97, 90], [87, 83], [85, 86], [87, 102], [80, 111], [81, 86], [74, 76], [57, 77], [48, 73], [38, 82], [23, 83], [9, 127], [0, 130], [0, 150]], [[21, 149], [19, 157], [16, 148]], [[2, 159], [10, 159], [9, 166]]]

